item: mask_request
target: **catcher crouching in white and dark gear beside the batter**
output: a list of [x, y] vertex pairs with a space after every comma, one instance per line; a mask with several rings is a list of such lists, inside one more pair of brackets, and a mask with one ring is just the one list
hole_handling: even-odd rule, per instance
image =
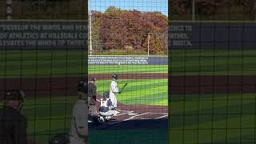
[[117, 114], [116, 110], [113, 109], [113, 103], [110, 100], [110, 92], [106, 91], [101, 99], [101, 105], [99, 107], [100, 121], [105, 122], [110, 120]]

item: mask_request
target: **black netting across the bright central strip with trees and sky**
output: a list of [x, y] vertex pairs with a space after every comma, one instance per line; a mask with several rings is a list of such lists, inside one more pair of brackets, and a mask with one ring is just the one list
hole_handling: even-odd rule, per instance
[[118, 114], [89, 124], [90, 142], [168, 143], [167, 5], [166, 0], [89, 1], [89, 75], [97, 79], [98, 106], [116, 83], [122, 90], [110, 94]]

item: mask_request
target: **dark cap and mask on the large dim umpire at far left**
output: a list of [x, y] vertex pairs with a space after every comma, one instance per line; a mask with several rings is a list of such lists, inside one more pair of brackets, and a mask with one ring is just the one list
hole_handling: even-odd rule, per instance
[[18, 109], [21, 110], [22, 106], [26, 100], [26, 95], [22, 90], [8, 90], [6, 91], [6, 95], [4, 97], [4, 101], [18, 101], [19, 106]]

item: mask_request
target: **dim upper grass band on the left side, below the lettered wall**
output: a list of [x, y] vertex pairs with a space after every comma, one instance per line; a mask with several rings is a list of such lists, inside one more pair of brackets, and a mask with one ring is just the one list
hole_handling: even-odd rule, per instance
[[82, 50], [0, 50], [0, 77], [65, 77], [85, 71]]

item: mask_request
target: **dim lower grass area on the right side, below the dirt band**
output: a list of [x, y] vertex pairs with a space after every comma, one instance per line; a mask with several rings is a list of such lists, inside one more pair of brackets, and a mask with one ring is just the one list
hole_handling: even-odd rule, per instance
[[255, 94], [174, 95], [170, 143], [255, 143]]

